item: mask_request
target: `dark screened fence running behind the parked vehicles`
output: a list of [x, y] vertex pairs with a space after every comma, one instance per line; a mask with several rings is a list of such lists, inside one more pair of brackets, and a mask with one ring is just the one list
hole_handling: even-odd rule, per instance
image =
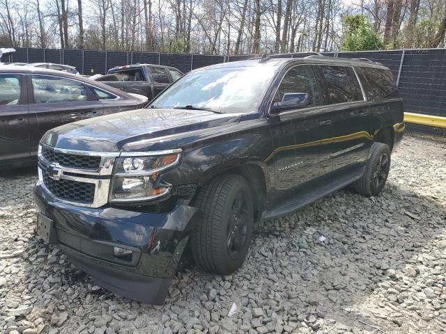
[[[105, 74], [110, 68], [135, 63], [152, 63], [176, 67], [189, 72], [199, 67], [240, 61], [252, 58], [243, 56], [208, 56], [201, 54], [169, 54], [132, 51], [94, 51], [64, 49], [16, 48], [14, 54], [3, 58], [4, 62], [62, 63], [72, 65], [81, 74]], [[301, 58], [311, 52], [270, 55], [274, 57]], [[446, 117], [446, 49], [409, 49], [392, 51], [357, 51], [323, 53], [338, 58], [367, 58], [382, 63], [392, 70], [403, 97], [406, 111]], [[435, 129], [410, 125], [423, 132]], [[443, 135], [446, 135], [443, 129]]]

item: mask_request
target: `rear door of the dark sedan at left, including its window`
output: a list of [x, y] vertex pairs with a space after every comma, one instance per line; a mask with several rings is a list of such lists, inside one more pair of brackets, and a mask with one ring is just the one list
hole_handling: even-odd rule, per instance
[[30, 144], [36, 154], [49, 129], [104, 113], [104, 107], [81, 81], [52, 75], [29, 76]]

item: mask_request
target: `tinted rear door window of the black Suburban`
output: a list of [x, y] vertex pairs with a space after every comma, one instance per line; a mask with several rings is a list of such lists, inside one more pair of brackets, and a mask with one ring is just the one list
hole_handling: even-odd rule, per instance
[[324, 105], [363, 101], [360, 84], [351, 67], [315, 66]]

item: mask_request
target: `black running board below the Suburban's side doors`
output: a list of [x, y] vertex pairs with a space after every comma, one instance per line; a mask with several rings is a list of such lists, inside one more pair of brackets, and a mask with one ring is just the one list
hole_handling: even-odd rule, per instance
[[305, 207], [315, 200], [319, 198], [323, 198], [323, 196], [327, 196], [334, 191], [344, 188], [360, 179], [362, 174], [364, 173], [364, 168], [355, 168], [350, 173], [347, 173], [345, 176], [337, 177], [333, 175], [330, 179], [330, 182], [323, 182], [318, 186], [313, 186], [312, 189], [307, 191], [299, 191], [298, 195], [286, 200], [286, 202], [282, 203], [277, 207], [273, 207], [262, 217], [263, 221], [273, 218], [279, 218], [285, 216], [287, 214], [291, 214], [291, 212], [295, 212], [301, 207]]

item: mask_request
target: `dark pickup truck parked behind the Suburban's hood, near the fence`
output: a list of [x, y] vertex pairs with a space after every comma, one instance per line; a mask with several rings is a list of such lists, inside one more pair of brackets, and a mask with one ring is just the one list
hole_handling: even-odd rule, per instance
[[95, 79], [127, 93], [141, 94], [151, 101], [183, 73], [174, 68], [151, 64], [135, 64], [110, 69], [107, 75]]

